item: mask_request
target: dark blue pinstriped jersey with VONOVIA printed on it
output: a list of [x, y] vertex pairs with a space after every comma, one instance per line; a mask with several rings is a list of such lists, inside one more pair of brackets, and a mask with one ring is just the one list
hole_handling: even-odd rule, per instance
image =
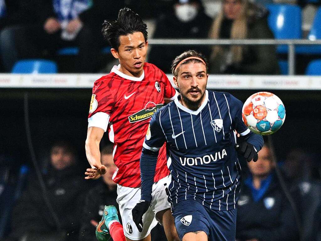
[[191, 111], [179, 98], [152, 117], [143, 147], [157, 150], [164, 141], [172, 181], [170, 201], [194, 199], [212, 210], [235, 209], [241, 167], [234, 129], [250, 131], [242, 121], [242, 102], [229, 93], [206, 91], [204, 103]]

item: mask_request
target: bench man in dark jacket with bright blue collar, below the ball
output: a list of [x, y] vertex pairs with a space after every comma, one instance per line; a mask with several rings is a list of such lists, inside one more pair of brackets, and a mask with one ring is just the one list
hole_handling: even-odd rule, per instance
[[276, 174], [270, 148], [263, 146], [257, 162], [248, 163], [249, 177], [238, 201], [238, 241], [298, 240], [294, 211]]

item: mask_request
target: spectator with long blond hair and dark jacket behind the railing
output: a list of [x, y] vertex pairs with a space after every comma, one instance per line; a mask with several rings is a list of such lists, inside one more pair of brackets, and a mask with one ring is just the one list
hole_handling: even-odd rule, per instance
[[[209, 37], [213, 39], [273, 39], [267, 24], [268, 12], [248, 0], [224, 0]], [[273, 45], [218, 45], [212, 48], [210, 73], [279, 73]]]

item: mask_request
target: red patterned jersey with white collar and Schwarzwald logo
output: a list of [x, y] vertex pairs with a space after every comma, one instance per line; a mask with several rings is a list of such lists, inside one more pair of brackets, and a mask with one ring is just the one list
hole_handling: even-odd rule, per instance
[[[114, 66], [111, 72], [96, 80], [92, 90], [88, 127], [109, 131], [114, 142], [115, 183], [139, 187], [139, 159], [150, 118], [173, 100], [176, 90], [167, 76], [155, 65], [145, 63], [141, 77], [127, 76]], [[160, 148], [154, 182], [169, 174], [165, 144]]]

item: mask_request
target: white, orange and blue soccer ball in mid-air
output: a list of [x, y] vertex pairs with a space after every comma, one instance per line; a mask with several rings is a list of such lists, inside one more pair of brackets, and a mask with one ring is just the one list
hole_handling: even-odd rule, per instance
[[247, 98], [242, 109], [245, 125], [256, 134], [270, 135], [284, 123], [285, 108], [275, 94], [258, 92]]

